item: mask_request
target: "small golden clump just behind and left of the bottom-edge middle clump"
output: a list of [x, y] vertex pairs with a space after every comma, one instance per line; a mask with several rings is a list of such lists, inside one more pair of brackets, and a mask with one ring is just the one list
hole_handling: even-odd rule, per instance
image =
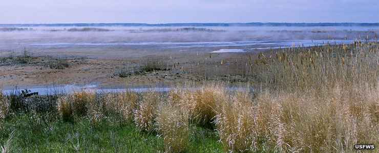
[[160, 103], [162, 102], [158, 93], [147, 92], [143, 94], [141, 103], [134, 111], [134, 122], [141, 131], [155, 131], [155, 119]]

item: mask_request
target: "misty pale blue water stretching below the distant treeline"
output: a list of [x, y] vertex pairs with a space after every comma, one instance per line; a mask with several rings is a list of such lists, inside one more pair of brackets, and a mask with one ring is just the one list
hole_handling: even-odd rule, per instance
[[[7, 31], [8, 30], [8, 31]], [[247, 51], [375, 39], [379, 27], [19, 27], [0, 31], [0, 56], [22, 52], [56, 55], [70, 50], [107, 52]], [[54, 54], [52, 54], [54, 52]], [[115, 55], [116, 56], [116, 55]]]

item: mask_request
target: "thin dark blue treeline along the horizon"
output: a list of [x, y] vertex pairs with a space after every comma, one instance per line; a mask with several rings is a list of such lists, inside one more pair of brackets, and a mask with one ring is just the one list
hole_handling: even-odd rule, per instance
[[48, 23], [48, 24], [0, 24], [0, 27], [376, 27], [379, 23], [321, 22], [249, 22], [249, 23]]

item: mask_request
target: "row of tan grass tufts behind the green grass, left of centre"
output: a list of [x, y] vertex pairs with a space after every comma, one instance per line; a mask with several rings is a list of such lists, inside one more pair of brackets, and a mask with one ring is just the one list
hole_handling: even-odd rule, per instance
[[93, 123], [96, 123], [104, 117], [113, 116], [128, 122], [133, 120], [138, 100], [137, 93], [130, 91], [121, 93], [81, 91], [61, 97], [57, 108], [64, 120], [72, 120], [75, 116], [88, 116]]

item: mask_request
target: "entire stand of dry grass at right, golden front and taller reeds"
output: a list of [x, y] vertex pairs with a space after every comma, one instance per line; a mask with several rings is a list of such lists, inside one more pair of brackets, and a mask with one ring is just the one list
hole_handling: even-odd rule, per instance
[[378, 50], [356, 42], [261, 54], [252, 105], [236, 94], [217, 114], [225, 151], [353, 152], [354, 144], [378, 144]]

